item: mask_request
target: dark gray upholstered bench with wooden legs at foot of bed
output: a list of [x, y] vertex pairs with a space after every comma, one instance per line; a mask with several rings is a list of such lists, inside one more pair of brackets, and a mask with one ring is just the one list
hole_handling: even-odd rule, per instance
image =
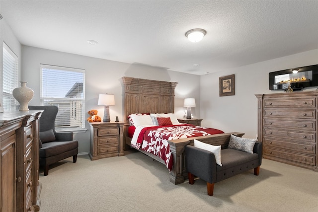
[[[200, 143], [200, 145], [203, 145], [200, 148], [191, 145], [185, 147], [189, 183], [194, 184], [194, 176], [206, 181], [209, 196], [213, 195], [214, 184], [217, 182], [250, 169], [254, 169], [255, 175], [259, 174], [259, 166], [262, 162], [262, 143], [255, 140], [247, 144], [249, 145], [247, 147], [249, 152], [246, 152], [244, 151], [246, 150], [244, 149], [246, 147], [244, 140], [246, 141], [246, 139], [233, 135], [231, 135], [231, 138], [233, 138], [234, 142], [230, 141], [229, 146], [225, 149], [221, 149], [221, 146], [212, 146], [206, 143]], [[235, 140], [239, 140], [245, 147], [237, 145]], [[211, 149], [204, 149], [205, 147], [207, 149], [212, 147], [214, 153], [211, 152]]]

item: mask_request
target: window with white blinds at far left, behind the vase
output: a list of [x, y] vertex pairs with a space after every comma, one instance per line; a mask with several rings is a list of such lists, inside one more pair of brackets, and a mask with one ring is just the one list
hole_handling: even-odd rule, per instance
[[16, 111], [12, 90], [18, 86], [18, 57], [3, 42], [2, 58], [2, 107], [4, 111]]

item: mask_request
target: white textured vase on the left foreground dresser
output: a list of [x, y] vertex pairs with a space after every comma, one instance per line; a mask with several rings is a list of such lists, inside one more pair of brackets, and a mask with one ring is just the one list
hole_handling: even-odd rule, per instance
[[19, 111], [29, 111], [28, 104], [34, 96], [34, 91], [26, 86], [27, 82], [20, 81], [21, 87], [12, 91], [13, 97], [20, 103]]

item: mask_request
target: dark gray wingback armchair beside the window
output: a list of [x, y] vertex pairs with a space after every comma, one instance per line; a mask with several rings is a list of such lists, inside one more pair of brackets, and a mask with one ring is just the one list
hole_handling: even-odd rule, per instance
[[29, 110], [44, 110], [40, 117], [40, 166], [44, 175], [49, 174], [49, 166], [60, 160], [73, 156], [76, 163], [79, 142], [73, 140], [73, 133], [55, 131], [55, 118], [59, 108], [52, 105], [29, 106]]

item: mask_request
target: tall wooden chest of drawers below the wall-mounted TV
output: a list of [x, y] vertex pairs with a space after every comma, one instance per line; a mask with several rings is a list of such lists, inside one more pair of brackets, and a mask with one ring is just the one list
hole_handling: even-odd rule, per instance
[[256, 97], [263, 157], [318, 171], [318, 91]]

